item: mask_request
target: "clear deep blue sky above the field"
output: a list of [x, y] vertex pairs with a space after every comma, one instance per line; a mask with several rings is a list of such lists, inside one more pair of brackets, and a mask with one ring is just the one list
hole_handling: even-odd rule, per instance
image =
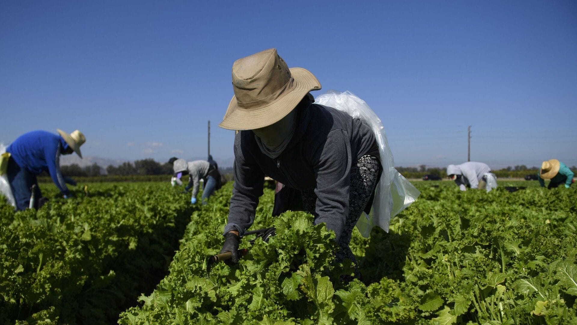
[[577, 165], [574, 1], [2, 1], [0, 141], [80, 129], [84, 156], [233, 157], [237, 58], [276, 47], [381, 117], [396, 165]]

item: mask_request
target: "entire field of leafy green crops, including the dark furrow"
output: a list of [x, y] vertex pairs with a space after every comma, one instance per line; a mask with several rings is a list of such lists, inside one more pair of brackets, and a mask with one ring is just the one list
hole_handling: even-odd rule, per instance
[[88, 184], [88, 196], [81, 185], [37, 213], [0, 203], [0, 323], [577, 323], [574, 187], [500, 181], [486, 194], [415, 182], [421, 196], [388, 234], [355, 230], [362, 279], [346, 283], [331, 232], [306, 213], [271, 217], [272, 190], [251, 230], [276, 236], [248, 236], [241, 263], [207, 274], [231, 183], [204, 206], [168, 183]]

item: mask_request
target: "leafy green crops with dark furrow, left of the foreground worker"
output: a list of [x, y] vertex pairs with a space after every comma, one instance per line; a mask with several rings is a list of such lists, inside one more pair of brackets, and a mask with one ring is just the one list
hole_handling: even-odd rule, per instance
[[0, 323], [103, 324], [166, 274], [193, 211], [168, 184], [80, 187], [14, 213], [0, 203]]

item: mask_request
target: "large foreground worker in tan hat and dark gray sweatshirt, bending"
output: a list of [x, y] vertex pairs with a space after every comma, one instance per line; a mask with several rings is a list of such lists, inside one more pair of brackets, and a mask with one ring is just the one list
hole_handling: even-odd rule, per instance
[[231, 252], [253, 224], [265, 175], [299, 190], [304, 209], [333, 230], [338, 260], [355, 257], [351, 232], [370, 210], [381, 165], [375, 136], [364, 122], [313, 104], [321, 85], [303, 68], [287, 67], [269, 49], [233, 65], [234, 97], [220, 127], [241, 130], [234, 141], [234, 189], [225, 241]]

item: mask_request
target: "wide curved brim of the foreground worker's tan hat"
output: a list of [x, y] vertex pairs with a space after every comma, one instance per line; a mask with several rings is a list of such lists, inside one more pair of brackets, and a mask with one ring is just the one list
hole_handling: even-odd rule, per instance
[[256, 110], [238, 108], [237, 98], [233, 96], [224, 119], [219, 127], [227, 130], [254, 130], [267, 127], [287, 116], [309, 91], [320, 90], [319, 80], [307, 69], [290, 68], [295, 87], [278, 101]]

